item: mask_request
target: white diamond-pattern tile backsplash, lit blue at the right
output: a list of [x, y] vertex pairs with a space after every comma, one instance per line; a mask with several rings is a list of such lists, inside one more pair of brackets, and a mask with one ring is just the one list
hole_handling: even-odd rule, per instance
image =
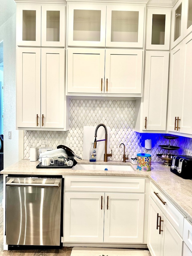
[[[152, 161], [163, 161], [156, 154], [167, 153], [159, 145], [168, 145], [169, 140], [164, 139], [164, 134], [145, 134], [134, 131], [135, 101], [133, 100], [100, 100], [100, 99], [71, 99], [69, 105], [69, 131], [24, 131], [24, 159], [29, 159], [30, 147], [41, 146], [42, 140], [48, 139], [49, 147], [57, 148], [68, 140], [68, 146], [76, 155], [83, 156], [83, 127], [97, 126], [103, 123], [109, 126], [110, 151], [113, 156], [109, 160], [122, 161], [125, 144], [126, 156], [137, 156], [137, 153], [152, 155]], [[152, 139], [152, 149], [145, 149], [145, 140]], [[93, 138], [94, 140], [94, 138]], [[171, 145], [180, 146], [171, 154], [192, 155], [192, 139], [179, 137], [171, 140]]]

